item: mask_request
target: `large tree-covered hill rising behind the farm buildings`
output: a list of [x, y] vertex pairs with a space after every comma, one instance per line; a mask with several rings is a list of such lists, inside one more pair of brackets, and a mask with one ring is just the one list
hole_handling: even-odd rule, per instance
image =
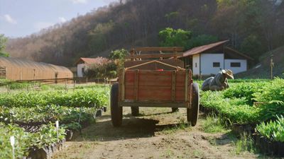
[[[284, 45], [282, 0], [128, 0], [113, 3], [28, 37], [9, 40], [12, 57], [72, 66], [112, 49], [159, 45], [164, 28], [212, 35], [257, 59]], [[206, 37], [206, 36], [205, 36]]]

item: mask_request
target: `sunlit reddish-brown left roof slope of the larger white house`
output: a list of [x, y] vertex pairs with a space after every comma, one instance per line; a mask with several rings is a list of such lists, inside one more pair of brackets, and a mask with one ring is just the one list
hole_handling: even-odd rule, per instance
[[186, 52], [183, 53], [183, 57], [188, 57], [194, 54], [200, 54], [202, 52], [207, 51], [208, 49], [212, 49], [213, 47], [217, 47], [219, 45], [223, 45], [224, 43], [229, 42], [229, 40], [224, 40], [222, 42], [215, 42], [209, 45], [203, 45], [200, 47], [194, 47], [190, 50], [187, 50]]

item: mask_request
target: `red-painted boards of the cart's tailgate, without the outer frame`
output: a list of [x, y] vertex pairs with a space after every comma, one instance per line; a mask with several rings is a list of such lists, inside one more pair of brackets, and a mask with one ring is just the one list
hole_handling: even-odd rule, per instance
[[138, 76], [136, 72], [125, 73], [125, 100], [185, 101], [185, 71], [139, 70]]

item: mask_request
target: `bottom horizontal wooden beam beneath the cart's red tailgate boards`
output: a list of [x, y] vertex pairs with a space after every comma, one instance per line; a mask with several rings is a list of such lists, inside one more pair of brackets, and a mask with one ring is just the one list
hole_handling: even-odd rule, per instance
[[156, 101], [145, 101], [145, 102], [134, 102], [133, 100], [119, 102], [121, 107], [187, 107], [188, 102], [156, 102]]

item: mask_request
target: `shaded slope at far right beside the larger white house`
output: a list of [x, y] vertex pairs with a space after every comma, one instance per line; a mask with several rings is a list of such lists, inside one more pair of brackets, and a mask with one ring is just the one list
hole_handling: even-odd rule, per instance
[[236, 78], [271, 78], [271, 55], [273, 54], [273, 76], [284, 77], [284, 46], [278, 47], [277, 49], [272, 50], [263, 54], [259, 58], [261, 61], [256, 65], [255, 68], [250, 69], [243, 73], [236, 74]]

